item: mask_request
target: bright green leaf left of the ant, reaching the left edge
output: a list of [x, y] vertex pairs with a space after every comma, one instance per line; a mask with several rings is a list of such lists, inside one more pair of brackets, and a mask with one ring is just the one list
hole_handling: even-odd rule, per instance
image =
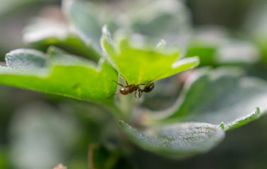
[[0, 67], [0, 83], [69, 96], [75, 99], [110, 102], [117, 71], [106, 62], [98, 65], [86, 59], [32, 49], [16, 49], [6, 55]]

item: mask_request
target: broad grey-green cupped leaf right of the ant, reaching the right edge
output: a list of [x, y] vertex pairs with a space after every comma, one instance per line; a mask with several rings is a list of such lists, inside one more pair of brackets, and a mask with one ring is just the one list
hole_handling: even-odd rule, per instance
[[242, 77], [239, 69], [218, 68], [212, 71], [198, 70], [191, 75], [177, 103], [160, 113], [160, 118], [163, 121], [223, 123], [225, 130], [230, 130], [265, 113], [266, 81], [256, 77]]

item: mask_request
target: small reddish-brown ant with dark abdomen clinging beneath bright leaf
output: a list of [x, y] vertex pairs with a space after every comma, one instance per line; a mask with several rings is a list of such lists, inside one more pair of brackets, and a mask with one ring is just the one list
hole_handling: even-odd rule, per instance
[[[123, 75], [121, 75], [121, 76], [124, 77]], [[120, 84], [119, 82], [116, 82], [115, 80], [113, 80], [113, 82], [116, 82], [121, 87], [124, 87], [124, 88], [119, 89], [119, 92], [121, 94], [124, 94], [124, 95], [131, 94], [132, 92], [134, 92], [134, 96], [135, 97], [136, 97], [136, 93], [138, 92], [138, 98], [139, 99], [141, 98], [143, 92], [149, 93], [155, 87], [155, 84], [152, 82], [152, 80], [150, 80], [147, 83], [141, 83], [141, 84], [128, 84], [128, 82], [125, 79], [125, 77], [124, 77], [124, 80], [126, 82], [126, 86], [124, 86], [123, 84]], [[141, 85], [144, 85], [143, 89], [141, 89], [141, 87], [140, 87]]]

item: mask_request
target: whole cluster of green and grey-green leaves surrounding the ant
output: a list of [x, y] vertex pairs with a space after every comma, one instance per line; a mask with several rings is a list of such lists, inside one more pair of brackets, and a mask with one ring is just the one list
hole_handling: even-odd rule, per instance
[[[6, 54], [0, 83], [88, 101], [109, 113], [117, 133], [104, 135], [116, 137], [119, 148], [90, 142], [90, 168], [115, 168], [128, 155], [128, 141], [165, 158], [203, 154], [222, 142], [225, 132], [267, 113], [266, 80], [244, 73], [245, 66], [261, 60], [260, 52], [251, 42], [222, 32], [208, 39], [212, 34], [203, 30], [192, 31], [184, 42], [188, 45], [181, 45], [177, 39], [191, 27], [188, 9], [179, 1], [162, 3], [138, 1], [121, 15], [123, 10], [112, 13], [104, 4], [63, 0], [64, 20], [35, 18], [25, 28], [25, 42], [36, 49]], [[199, 63], [219, 68], [194, 69]], [[191, 70], [188, 78], [165, 110], [141, 107], [143, 100], [133, 95], [116, 96], [115, 82], [124, 84], [121, 77], [129, 84], [157, 84], [185, 70]]]

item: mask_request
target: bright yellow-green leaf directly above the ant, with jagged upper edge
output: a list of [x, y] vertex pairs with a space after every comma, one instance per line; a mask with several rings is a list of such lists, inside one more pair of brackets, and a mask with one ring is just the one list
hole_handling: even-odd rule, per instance
[[194, 68], [199, 63], [198, 57], [177, 60], [177, 49], [136, 47], [128, 39], [121, 39], [115, 45], [106, 27], [103, 28], [101, 42], [107, 53], [107, 61], [132, 84], [160, 80]]

